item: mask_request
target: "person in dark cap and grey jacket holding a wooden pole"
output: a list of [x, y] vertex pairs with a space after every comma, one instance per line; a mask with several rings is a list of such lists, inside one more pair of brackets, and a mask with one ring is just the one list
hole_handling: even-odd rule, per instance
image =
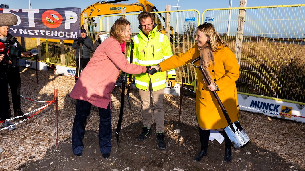
[[87, 36], [87, 31], [81, 29], [81, 36], [74, 40], [72, 48], [76, 49], [76, 72], [75, 82], [78, 79], [81, 69], [84, 69], [90, 60], [90, 51], [92, 47], [92, 39]]

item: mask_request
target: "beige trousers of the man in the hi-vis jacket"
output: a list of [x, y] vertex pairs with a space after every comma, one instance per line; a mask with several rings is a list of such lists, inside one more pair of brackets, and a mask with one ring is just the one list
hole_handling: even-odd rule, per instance
[[142, 103], [142, 117], [143, 125], [145, 127], [151, 127], [152, 112], [150, 109], [150, 96], [152, 97], [152, 105], [154, 109], [154, 119], [156, 122], [156, 133], [164, 132], [164, 109], [163, 98], [164, 88], [157, 91], [144, 91], [139, 89], [139, 94]]

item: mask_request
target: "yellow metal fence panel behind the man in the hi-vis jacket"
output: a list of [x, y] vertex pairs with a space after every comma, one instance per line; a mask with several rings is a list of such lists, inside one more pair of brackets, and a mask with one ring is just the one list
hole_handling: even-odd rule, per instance
[[[102, 17], [102, 31], [109, 33], [109, 30], [116, 19], [121, 16], [126, 16], [126, 19], [131, 23], [132, 36], [138, 34], [139, 21], [137, 19], [139, 13], [126, 15], [107, 15]], [[170, 33], [169, 39], [174, 55], [184, 53], [191, 48], [195, 41], [196, 28], [200, 23], [200, 13], [197, 10], [178, 10], [178, 11], [161, 11], [152, 12], [154, 21], [158, 24], [159, 32], [165, 33], [165, 17], [170, 15]], [[127, 47], [129, 42], [126, 43]], [[177, 82], [181, 82], [184, 77], [184, 84], [195, 85], [196, 73], [191, 64], [176, 68]]]

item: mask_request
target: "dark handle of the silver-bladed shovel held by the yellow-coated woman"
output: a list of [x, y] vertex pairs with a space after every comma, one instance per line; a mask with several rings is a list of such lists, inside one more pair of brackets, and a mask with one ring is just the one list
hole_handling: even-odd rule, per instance
[[[197, 57], [196, 59], [194, 59], [194, 60], [192, 61], [192, 63], [198, 61], [199, 59], [200, 59], [200, 56]], [[193, 64], [193, 65], [194, 65], [194, 64]], [[202, 66], [197, 66], [197, 68], [199, 68], [199, 70], [201, 71], [201, 73], [202, 73], [202, 75], [203, 75], [203, 78], [204, 78], [204, 80], [206, 81], [206, 83], [207, 83], [208, 85], [210, 85], [210, 84], [211, 84], [211, 81], [208, 79], [206, 73], [203, 71]], [[227, 112], [227, 110], [224, 108], [224, 105], [222, 104], [222, 102], [221, 102], [221, 100], [220, 100], [218, 94], [216, 93], [216, 91], [212, 91], [212, 93], [213, 93], [213, 95], [215, 96], [215, 98], [216, 98], [216, 100], [217, 100], [217, 102], [218, 102], [218, 104], [219, 104], [219, 106], [220, 106], [222, 112], [224, 113], [224, 117], [226, 118], [226, 120], [227, 120], [227, 122], [228, 122], [230, 128], [235, 132], [235, 129], [234, 129], [234, 127], [233, 127], [233, 124], [232, 124], [232, 122], [231, 122], [231, 119], [230, 119], [230, 117], [229, 117], [229, 115], [228, 115], [228, 112]]]

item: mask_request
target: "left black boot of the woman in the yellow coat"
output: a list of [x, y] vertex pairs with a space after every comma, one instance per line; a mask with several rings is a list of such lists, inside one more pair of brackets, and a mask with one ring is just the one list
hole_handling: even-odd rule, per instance
[[193, 159], [195, 162], [199, 162], [203, 158], [203, 156], [207, 155], [210, 130], [202, 130], [199, 127], [199, 137], [200, 137], [200, 143], [201, 143], [201, 150]]

